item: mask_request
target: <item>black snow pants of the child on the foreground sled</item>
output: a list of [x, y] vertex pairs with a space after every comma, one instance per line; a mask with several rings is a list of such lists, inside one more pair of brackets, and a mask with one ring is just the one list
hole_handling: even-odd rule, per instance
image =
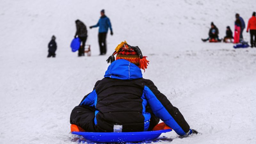
[[[157, 118], [152, 110], [147, 107], [146, 112], [151, 114], [148, 131], [151, 131], [160, 119]], [[76, 106], [70, 115], [70, 124], [76, 124], [86, 132], [105, 132], [103, 129], [94, 124], [95, 109], [88, 106]]]

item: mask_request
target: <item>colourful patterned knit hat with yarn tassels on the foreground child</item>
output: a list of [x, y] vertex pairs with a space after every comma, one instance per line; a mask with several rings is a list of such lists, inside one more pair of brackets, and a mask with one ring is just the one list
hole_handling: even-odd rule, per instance
[[114, 55], [116, 55], [116, 60], [119, 59], [124, 59], [124, 60], [128, 60], [131, 63], [135, 64], [136, 66], [138, 66], [139, 68], [143, 69], [145, 72], [145, 68], [147, 68], [148, 66], [148, 60], [146, 59], [146, 56], [143, 56], [140, 48], [138, 46], [131, 46], [129, 44], [127, 44], [126, 41], [122, 42], [121, 44], [118, 44], [115, 52], [108, 57], [107, 62], [112, 63], [113, 61], [115, 61], [115, 57]]

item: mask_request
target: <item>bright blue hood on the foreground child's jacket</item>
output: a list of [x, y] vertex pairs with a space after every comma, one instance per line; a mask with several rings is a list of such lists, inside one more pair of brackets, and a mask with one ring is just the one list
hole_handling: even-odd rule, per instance
[[132, 80], [142, 78], [142, 72], [138, 66], [128, 60], [115, 60], [105, 72], [104, 77], [122, 80]]

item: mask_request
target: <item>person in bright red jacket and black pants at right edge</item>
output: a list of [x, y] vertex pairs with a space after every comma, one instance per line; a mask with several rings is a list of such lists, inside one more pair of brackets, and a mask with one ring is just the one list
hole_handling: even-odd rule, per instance
[[[246, 32], [248, 33], [248, 30], [250, 29], [250, 35], [251, 35], [251, 47], [253, 48], [256, 47], [256, 17], [255, 17], [255, 12], [252, 13], [252, 17], [249, 19], [248, 25], [247, 25], [247, 30]], [[254, 41], [253, 41], [253, 36], [254, 36]]]

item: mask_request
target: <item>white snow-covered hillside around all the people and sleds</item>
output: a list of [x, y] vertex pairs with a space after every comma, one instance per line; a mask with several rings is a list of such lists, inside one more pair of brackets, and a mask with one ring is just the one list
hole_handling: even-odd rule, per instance
[[[93, 28], [86, 42], [92, 56], [77, 57], [69, 47], [75, 20], [95, 25], [101, 9], [114, 32], [108, 54], [98, 56]], [[77, 143], [69, 134], [71, 110], [103, 78], [106, 59], [124, 40], [148, 56], [143, 77], [202, 133], [181, 139], [169, 132], [155, 143], [256, 143], [256, 49], [201, 41], [212, 21], [223, 38], [226, 26], [234, 32], [236, 13], [247, 26], [253, 11], [254, 0], [1, 0], [0, 143]], [[57, 55], [47, 59], [52, 35]]]

